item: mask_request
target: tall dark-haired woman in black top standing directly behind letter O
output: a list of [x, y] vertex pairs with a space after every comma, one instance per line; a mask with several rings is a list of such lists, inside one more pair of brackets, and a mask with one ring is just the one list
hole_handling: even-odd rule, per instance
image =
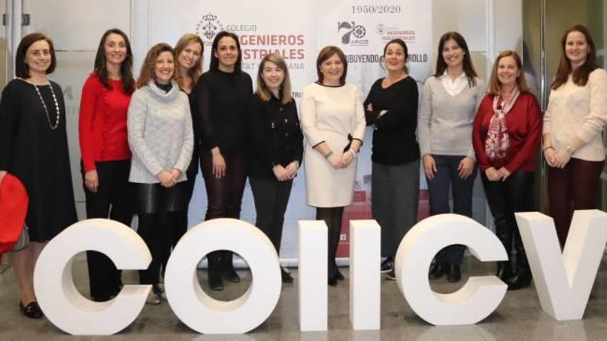
[[[205, 220], [240, 217], [246, 183], [246, 107], [253, 92], [251, 77], [241, 70], [238, 37], [219, 32], [213, 40], [209, 71], [194, 88], [200, 118], [200, 167], [206, 185]], [[240, 278], [232, 266], [231, 251], [208, 254], [208, 281], [222, 290], [222, 277]]]

